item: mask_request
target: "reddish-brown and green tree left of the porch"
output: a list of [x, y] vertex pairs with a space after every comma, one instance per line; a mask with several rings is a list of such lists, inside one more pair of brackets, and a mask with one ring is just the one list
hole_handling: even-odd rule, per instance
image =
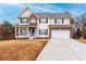
[[14, 38], [14, 27], [8, 21], [2, 23], [3, 31], [2, 39], [13, 39]]

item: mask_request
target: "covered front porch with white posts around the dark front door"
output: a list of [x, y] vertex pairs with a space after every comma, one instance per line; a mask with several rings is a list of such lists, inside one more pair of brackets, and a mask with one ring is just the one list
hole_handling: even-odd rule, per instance
[[37, 37], [37, 27], [33, 26], [21, 26], [15, 27], [15, 38], [36, 38]]

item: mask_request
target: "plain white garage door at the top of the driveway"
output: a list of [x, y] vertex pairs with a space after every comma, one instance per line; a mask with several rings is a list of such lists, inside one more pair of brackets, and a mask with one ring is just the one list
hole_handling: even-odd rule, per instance
[[70, 30], [51, 30], [51, 38], [70, 38]]

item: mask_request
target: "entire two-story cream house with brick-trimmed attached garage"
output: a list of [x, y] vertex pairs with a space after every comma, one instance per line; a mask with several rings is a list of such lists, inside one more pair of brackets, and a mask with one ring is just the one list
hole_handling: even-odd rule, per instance
[[73, 29], [67, 13], [34, 13], [26, 8], [17, 17], [15, 38], [71, 38]]

